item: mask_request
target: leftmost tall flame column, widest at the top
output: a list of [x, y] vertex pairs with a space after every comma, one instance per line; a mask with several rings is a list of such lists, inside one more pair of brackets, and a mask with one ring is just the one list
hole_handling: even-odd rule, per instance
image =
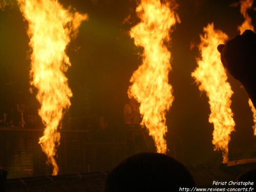
[[44, 136], [39, 143], [53, 165], [53, 175], [58, 166], [54, 159], [60, 144], [57, 131], [65, 110], [69, 109], [72, 92], [63, 74], [71, 66], [65, 50], [71, 38], [76, 37], [86, 14], [71, 13], [56, 0], [17, 0], [19, 9], [28, 21], [30, 37], [31, 85], [37, 88], [36, 98], [41, 104], [39, 115], [45, 124]]

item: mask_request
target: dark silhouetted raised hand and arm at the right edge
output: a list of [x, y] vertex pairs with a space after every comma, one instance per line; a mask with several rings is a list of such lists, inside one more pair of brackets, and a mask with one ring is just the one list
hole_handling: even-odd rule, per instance
[[221, 61], [228, 72], [238, 79], [256, 105], [256, 34], [246, 30], [217, 47]]

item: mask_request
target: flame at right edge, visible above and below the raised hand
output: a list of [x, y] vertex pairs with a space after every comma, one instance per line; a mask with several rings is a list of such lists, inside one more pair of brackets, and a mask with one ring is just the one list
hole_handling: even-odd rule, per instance
[[[238, 30], [240, 31], [240, 35], [247, 29], [250, 29], [254, 32], [254, 27], [251, 24], [251, 17], [248, 15], [247, 10], [251, 8], [253, 4], [253, 0], [242, 0], [240, 2], [241, 7], [240, 7], [240, 12], [244, 16], [244, 22], [242, 23], [241, 26], [238, 26]], [[256, 136], [256, 109], [254, 108], [251, 99], [248, 101], [251, 111], [253, 113], [253, 122], [254, 125], [252, 126], [254, 130], [254, 135]]]

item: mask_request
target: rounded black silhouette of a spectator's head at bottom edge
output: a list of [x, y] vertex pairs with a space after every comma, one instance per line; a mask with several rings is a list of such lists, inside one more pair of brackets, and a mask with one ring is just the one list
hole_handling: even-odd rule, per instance
[[179, 191], [193, 188], [187, 168], [172, 157], [158, 153], [139, 153], [128, 157], [108, 175], [105, 192]]

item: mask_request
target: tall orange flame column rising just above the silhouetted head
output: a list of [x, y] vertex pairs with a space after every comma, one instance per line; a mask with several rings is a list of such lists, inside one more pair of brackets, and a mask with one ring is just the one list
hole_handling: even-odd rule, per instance
[[[174, 1], [172, 3], [175, 5]], [[133, 73], [128, 94], [140, 102], [141, 124], [145, 124], [153, 136], [158, 153], [167, 150], [163, 138], [167, 132], [165, 114], [174, 100], [172, 86], [168, 84], [168, 73], [172, 69], [170, 52], [164, 41], [170, 40], [170, 29], [176, 22], [180, 23], [175, 7], [171, 10], [169, 6], [160, 0], [142, 0], [136, 9], [141, 22], [130, 31], [135, 45], [143, 47], [144, 51], [143, 64]]]

